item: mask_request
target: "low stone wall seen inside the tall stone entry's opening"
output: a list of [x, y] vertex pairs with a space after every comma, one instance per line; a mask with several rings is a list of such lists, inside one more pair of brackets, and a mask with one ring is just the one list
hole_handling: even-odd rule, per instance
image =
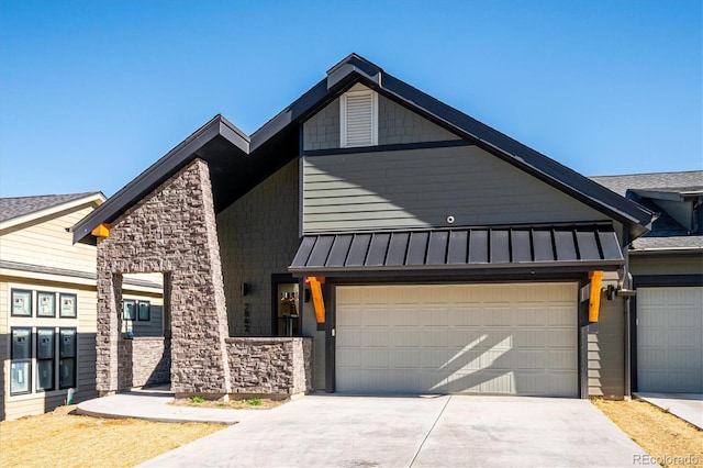
[[121, 339], [120, 388], [168, 383], [171, 369], [171, 341], [165, 337]]

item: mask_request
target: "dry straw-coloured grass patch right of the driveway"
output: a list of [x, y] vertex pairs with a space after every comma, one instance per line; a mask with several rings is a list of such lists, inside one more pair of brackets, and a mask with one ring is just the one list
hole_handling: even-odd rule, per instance
[[692, 424], [641, 400], [592, 402], [662, 466], [703, 467], [703, 431]]

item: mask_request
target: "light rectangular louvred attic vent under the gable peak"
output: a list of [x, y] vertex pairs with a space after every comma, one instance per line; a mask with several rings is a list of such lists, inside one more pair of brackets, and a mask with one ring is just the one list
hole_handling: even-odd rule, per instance
[[341, 98], [342, 147], [378, 145], [378, 94], [349, 91]]

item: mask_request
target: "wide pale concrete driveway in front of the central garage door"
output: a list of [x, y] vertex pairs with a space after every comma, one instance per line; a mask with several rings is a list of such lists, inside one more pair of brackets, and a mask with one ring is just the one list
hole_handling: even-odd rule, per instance
[[588, 400], [308, 395], [143, 466], [624, 467], [645, 452]]

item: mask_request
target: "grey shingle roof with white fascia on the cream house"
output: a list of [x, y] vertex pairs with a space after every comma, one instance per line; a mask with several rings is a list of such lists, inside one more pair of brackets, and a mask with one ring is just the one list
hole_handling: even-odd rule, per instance
[[103, 202], [101, 192], [0, 198], [0, 229], [25, 223], [90, 201]]

